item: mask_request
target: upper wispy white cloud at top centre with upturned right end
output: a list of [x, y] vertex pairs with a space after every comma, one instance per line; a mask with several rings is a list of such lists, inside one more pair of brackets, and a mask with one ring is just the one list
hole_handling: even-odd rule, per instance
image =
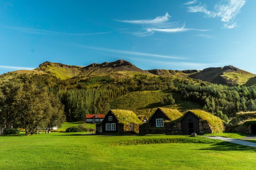
[[153, 20], [147, 19], [147, 20], [115, 20], [115, 21], [134, 23], [134, 24], [157, 24], [157, 23], [168, 21], [169, 17], [171, 16], [168, 14], [168, 12], [166, 12], [164, 16], [156, 17]]

